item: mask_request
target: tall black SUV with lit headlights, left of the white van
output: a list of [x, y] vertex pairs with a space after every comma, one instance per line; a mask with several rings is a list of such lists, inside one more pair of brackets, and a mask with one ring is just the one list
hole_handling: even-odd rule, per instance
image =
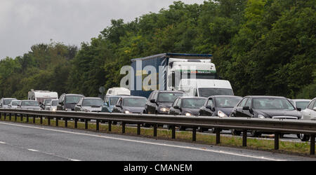
[[144, 113], [168, 114], [171, 105], [178, 97], [183, 97], [182, 91], [154, 90], [147, 99]]

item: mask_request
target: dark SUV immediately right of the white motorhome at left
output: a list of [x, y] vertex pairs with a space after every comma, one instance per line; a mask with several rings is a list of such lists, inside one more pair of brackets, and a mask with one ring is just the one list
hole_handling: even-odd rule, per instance
[[82, 94], [62, 94], [59, 97], [57, 111], [74, 111], [74, 106], [83, 98]]

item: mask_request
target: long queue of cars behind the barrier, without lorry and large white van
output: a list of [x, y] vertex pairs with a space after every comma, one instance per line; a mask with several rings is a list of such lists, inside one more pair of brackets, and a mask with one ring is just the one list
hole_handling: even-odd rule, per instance
[[[190, 97], [183, 91], [154, 90], [148, 98], [132, 96], [129, 90], [114, 87], [107, 91], [104, 100], [98, 97], [84, 97], [82, 94], [62, 94], [59, 99], [50, 97], [48, 91], [34, 91], [35, 95], [27, 100], [2, 98], [1, 108], [32, 109], [48, 111], [84, 111], [105, 113], [147, 113], [174, 116], [216, 116], [220, 118], [274, 118], [316, 120], [316, 98], [287, 99], [274, 96], [212, 95], [210, 97]], [[45, 94], [46, 93], [46, 94]], [[39, 95], [37, 95], [39, 94]], [[39, 97], [40, 98], [37, 98]], [[45, 97], [43, 97], [45, 96]], [[145, 127], [150, 125], [144, 124]], [[179, 130], [186, 127], [178, 126]], [[212, 128], [199, 128], [206, 132]], [[232, 135], [242, 131], [231, 130]], [[253, 137], [270, 134], [252, 131]], [[308, 135], [299, 134], [298, 138], [308, 141]]]

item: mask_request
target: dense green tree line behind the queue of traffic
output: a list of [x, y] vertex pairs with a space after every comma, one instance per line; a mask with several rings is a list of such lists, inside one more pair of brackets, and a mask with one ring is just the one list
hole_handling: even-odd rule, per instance
[[235, 94], [316, 97], [316, 1], [174, 2], [131, 22], [112, 20], [80, 49], [37, 44], [0, 62], [0, 96], [54, 90], [98, 96], [119, 85], [121, 66], [162, 52], [212, 53]]

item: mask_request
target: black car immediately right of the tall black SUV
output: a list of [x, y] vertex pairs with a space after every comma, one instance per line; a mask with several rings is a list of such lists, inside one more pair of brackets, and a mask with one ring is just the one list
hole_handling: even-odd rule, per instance
[[[181, 116], [199, 116], [199, 109], [207, 98], [204, 97], [178, 97], [172, 104], [169, 114]], [[180, 130], [186, 127], [180, 126]]]

